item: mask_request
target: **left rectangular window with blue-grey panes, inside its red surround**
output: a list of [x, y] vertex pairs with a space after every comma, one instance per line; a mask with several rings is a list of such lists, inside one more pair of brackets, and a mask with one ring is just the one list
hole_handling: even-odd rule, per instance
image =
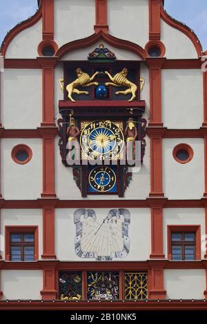
[[34, 233], [10, 233], [10, 261], [34, 261]]

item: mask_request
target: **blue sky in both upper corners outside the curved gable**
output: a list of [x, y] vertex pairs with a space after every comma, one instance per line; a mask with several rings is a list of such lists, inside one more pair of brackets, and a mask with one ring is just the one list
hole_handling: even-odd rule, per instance
[[[165, 0], [165, 9], [170, 16], [192, 28], [203, 49], [207, 50], [206, 0]], [[37, 0], [0, 0], [0, 44], [8, 30], [32, 16], [36, 10]]]

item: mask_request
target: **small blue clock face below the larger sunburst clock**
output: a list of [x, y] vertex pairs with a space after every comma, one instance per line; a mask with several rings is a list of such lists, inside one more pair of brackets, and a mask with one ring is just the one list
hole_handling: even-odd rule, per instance
[[92, 170], [88, 176], [89, 192], [117, 192], [117, 176], [113, 168], [101, 165]]

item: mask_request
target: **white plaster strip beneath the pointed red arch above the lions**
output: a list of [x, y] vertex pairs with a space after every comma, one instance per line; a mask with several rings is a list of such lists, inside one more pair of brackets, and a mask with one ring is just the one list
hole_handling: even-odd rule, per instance
[[80, 50], [69, 52], [61, 58], [61, 61], [87, 60], [88, 54], [90, 52], [93, 52], [95, 48], [99, 48], [100, 44], [103, 44], [106, 48], [114, 52], [118, 60], [141, 61], [141, 57], [139, 57], [139, 55], [132, 53], [128, 50], [122, 50], [120, 48], [115, 48], [114, 46], [108, 45], [106, 41], [102, 41], [102, 39], [100, 39], [94, 45], [89, 46], [88, 48], [81, 48]]

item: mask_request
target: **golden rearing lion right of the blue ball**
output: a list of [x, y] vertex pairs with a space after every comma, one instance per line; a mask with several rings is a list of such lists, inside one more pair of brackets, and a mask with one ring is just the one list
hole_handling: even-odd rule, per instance
[[[124, 91], [116, 91], [115, 94], [129, 94], [129, 93], [131, 93], [132, 97], [128, 101], [132, 101], [136, 98], [137, 85], [135, 85], [135, 83], [132, 83], [131, 81], [129, 81], [126, 78], [126, 76], [128, 74], [127, 68], [124, 68], [121, 72], [115, 74], [114, 77], [112, 77], [108, 71], [105, 71], [105, 73], [108, 75], [110, 81], [112, 81], [112, 82], [106, 82], [105, 83], [106, 85], [112, 85], [114, 87], [125, 86], [128, 88]], [[141, 85], [140, 85], [140, 91], [141, 91], [144, 87], [144, 79], [141, 78], [140, 82], [141, 82]]]

